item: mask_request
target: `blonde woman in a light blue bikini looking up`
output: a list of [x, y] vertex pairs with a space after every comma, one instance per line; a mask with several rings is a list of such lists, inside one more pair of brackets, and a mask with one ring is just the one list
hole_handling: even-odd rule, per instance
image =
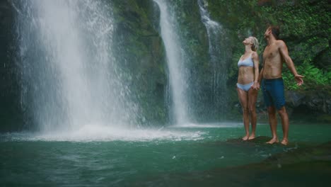
[[[252, 140], [255, 138], [256, 129], [256, 111], [255, 103], [257, 100], [258, 89], [260, 89], [259, 79], [259, 56], [257, 55], [258, 40], [255, 37], [249, 37], [243, 40], [245, 45], [245, 54], [240, 57], [238, 62], [238, 97], [243, 108], [243, 123], [246, 135], [243, 140]], [[250, 123], [252, 132], [250, 134]]]

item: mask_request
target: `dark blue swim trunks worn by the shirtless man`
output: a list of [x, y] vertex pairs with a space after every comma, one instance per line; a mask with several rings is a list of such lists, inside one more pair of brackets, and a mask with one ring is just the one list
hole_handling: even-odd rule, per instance
[[277, 110], [280, 110], [281, 107], [285, 106], [284, 81], [282, 78], [263, 79], [262, 92], [267, 107], [275, 106]]

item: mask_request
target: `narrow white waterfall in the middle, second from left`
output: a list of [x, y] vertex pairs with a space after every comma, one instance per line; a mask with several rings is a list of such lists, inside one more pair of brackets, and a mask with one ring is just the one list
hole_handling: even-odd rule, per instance
[[170, 11], [167, 1], [153, 0], [160, 9], [161, 37], [165, 45], [165, 52], [169, 69], [169, 84], [171, 112], [176, 125], [189, 123], [187, 113], [187, 77], [185, 77], [185, 67], [183, 62], [185, 57], [180, 45], [180, 38], [177, 35], [174, 13]]

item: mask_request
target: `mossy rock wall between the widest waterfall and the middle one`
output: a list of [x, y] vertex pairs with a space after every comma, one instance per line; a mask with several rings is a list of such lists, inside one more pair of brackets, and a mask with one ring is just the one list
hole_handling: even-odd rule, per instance
[[[165, 53], [158, 33], [158, 14], [152, 1], [112, 1], [115, 20], [115, 54], [128, 70], [129, 82], [142, 108], [141, 123], [168, 121], [165, 91]], [[125, 51], [126, 55], [123, 55]]]

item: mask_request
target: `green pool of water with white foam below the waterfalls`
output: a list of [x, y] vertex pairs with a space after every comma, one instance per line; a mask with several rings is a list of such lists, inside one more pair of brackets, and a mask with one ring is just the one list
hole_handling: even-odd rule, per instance
[[[281, 125], [278, 130], [281, 138]], [[237, 174], [219, 186], [241, 186], [247, 179], [233, 168], [330, 141], [330, 132], [331, 125], [291, 124], [289, 147], [227, 141], [243, 135], [241, 123], [6, 133], [0, 135], [0, 186], [201, 186], [200, 175], [214, 186]], [[270, 136], [269, 125], [258, 124], [257, 136]], [[205, 175], [219, 169], [224, 174], [217, 180]]]

